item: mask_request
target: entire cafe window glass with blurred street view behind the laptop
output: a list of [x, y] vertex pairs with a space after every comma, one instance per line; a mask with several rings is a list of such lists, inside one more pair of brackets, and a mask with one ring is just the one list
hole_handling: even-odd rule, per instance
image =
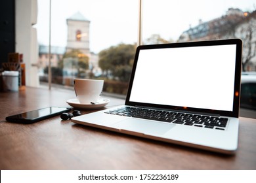
[[[52, 0], [52, 82], [103, 78], [125, 94], [137, 42], [139, 0]], [[243, 71], [256, 71], [256, 3], [252, 0], [158, 0], [142, 3], [143, 44], [240, 38]], [[48, 80], [49, 1], [38, 0], [39, 69]], [[48, 23], [47, 23], [48, 22]]]

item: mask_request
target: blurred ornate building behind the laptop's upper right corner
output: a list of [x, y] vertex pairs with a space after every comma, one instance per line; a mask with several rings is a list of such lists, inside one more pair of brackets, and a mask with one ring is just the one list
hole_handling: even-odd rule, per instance
[[243, 71], [256, 71], [256, 11], [229, 8], [224, 16], [184, 31], [178, 42], [239, 38], [243, 41]]

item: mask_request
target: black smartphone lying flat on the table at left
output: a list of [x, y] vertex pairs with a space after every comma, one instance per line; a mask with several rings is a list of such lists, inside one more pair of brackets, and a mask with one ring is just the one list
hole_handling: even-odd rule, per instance
[[46, 107], [37, 110], [32, 110], [29, 112], [24, 112], [21, 114], [8, 116], [5, 118], [5, 120], [7, 120], [7, 122], [32, 124], [34, 122], [39, 122], [41, 120], [57, 116], [58, 114], [62, 114], [62, 112], [69, 112], [70, 110], [71, 108], [68, 107]]

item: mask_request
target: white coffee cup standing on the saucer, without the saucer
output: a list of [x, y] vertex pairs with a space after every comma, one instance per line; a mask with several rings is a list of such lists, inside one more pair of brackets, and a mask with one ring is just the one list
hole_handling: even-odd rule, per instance
[[104, 80], [74, 79], [75, 95], [82, 104], [96, 103], [103, 90]]

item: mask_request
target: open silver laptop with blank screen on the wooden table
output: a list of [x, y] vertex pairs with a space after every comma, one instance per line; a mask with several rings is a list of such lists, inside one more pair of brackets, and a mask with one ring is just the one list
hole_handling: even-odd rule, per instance
[[72, 122], [234, 154], [241, 59], [240, 39], [138, 46], [125, 104]]

